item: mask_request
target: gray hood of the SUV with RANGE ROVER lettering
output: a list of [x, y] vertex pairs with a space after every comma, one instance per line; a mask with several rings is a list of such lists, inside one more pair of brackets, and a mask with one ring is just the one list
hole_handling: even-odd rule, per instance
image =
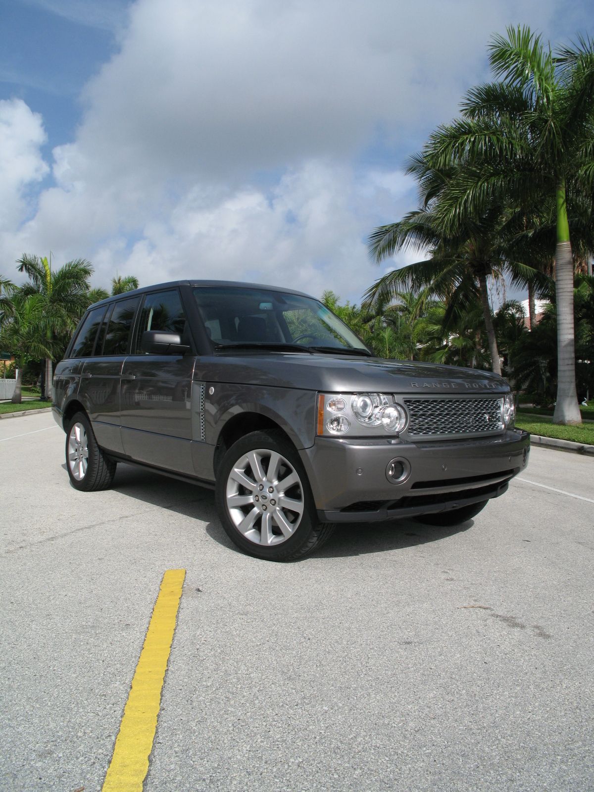
[[251, 383], [322, 392], [385, 391], [399, 394], [508, 393], [492, 371], [302, 352], [245, 352], [200, 357], [194, 379]]

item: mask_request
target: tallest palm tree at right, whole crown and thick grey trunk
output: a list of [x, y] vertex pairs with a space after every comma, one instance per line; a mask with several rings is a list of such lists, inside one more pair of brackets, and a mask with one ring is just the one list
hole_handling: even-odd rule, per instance
[[[554, 55], [529, 28], [508, 28], [507, 37], [493, 37], [489, 60], [501, 82], [471, 89], [463, 103], [463, 118], [440, 127], [426, 152], [436, 167], [461, 159], [468, 165], [466, 184], [459, 184], [444, 212], [444, 223], [449, 217], [451, 227], [461, 216], [480, 214], [493, 199], [511, 200], [528, 210], [554, 200], [558, 309], [554, 421], [580, 423], [569, 218], [581, 215], [580, 222], [592, 227], [594, 43], [580, 37], [577, 44]], [[589, 218], [584, 207], [589, 207]]]

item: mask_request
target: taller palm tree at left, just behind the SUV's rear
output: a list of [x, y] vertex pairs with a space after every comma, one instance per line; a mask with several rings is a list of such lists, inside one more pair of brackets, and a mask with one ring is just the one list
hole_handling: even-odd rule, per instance
[[[88, 306], [89, 277], [93, 267], [84, 259], [68, 261], [58, 270], [52, 270], [46, 257], [38, 258], [26, 253], [17, 261], [19, 272], [25, 272], [29, 281], [19, 288], [22, 296], [40, 295], [44, 311], [40, 327], [44, 330], [48, 349], [54, 349], [56, 337], [69, 336]], [[53, 353], [52, 353], [53, 354]], [[46, 398], [51, 399], [52, 354], [45, 355]]]

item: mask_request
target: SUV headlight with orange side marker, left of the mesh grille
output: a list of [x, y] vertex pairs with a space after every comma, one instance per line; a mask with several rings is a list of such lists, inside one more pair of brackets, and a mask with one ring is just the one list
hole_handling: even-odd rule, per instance
[[318, 394], [318, 435], [398, 436], [407, 421], [392, 394]]

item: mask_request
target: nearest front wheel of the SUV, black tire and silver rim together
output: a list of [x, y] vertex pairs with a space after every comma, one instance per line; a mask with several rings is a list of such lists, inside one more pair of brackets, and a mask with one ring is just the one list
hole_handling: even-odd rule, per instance
[[280, 432], [251, 432], [234, 443], [219, 465], [215, 496], [227, 535], [255, 558], [296, 561], [334, 530], [318, 521], [299, 454]]

